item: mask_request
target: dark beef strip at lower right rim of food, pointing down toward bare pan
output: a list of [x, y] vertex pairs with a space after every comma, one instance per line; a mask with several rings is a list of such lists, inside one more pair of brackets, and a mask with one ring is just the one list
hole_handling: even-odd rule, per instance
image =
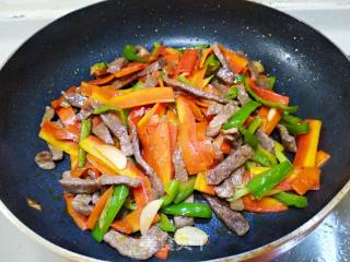
[[249, 225], [244, 216], [231, 210], [228, 206], [228, 203], [219, 200], [215, 196], [205, 195], [206, 200], [210, 204], [211, 209], [215, 215], [232, 230], [235, 231], [238, 236], [245, 235], [249, 230]]

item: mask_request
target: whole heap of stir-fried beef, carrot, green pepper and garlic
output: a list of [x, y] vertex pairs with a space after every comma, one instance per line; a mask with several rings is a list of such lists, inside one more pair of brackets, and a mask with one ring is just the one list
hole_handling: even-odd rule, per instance
[[35, 162], [52, 169], [69, 155], [59, 180], [69, 215], [122, 255], [166, 259], [173, 233], [176, 245], [206, 245], [195, 219], [212, 212], [243, 236], [245, 212], [303, 209], [320, 187], [322, 122], [296, 117], [242, 52], [128, 45], [91, 74], [46, 107], [48, 151]]

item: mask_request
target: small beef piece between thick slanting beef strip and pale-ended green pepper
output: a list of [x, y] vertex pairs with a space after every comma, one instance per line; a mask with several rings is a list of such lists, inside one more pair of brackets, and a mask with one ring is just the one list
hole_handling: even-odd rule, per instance
[[234, 194], [236, 187], [242, 186], [242, 176], [245, 172], [245, 167], [240, 167], [233, 174], [230, 175], [222, 183], [214, 187], [217, 195], [219, 198], [228, 199]]

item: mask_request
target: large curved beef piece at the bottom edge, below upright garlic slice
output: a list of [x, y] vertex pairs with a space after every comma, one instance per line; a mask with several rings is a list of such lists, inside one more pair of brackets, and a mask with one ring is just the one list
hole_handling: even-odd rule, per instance
[[136, 260], [147, 260], [164, 246], [167, 240], [167, 234], [158, 226], [153, 226], [140, 238], [109, 230], [103, 239], [122, 255]]

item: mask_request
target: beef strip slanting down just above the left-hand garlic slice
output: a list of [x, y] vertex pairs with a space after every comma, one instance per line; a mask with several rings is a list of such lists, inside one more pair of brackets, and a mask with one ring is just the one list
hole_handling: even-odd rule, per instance
[[119, 118], [113, 112], [101, 114], [101, 119], [119, 140], [120, 150], [126, 156], [133, 154], [132, 144], [127, 128], [120, 122]]

